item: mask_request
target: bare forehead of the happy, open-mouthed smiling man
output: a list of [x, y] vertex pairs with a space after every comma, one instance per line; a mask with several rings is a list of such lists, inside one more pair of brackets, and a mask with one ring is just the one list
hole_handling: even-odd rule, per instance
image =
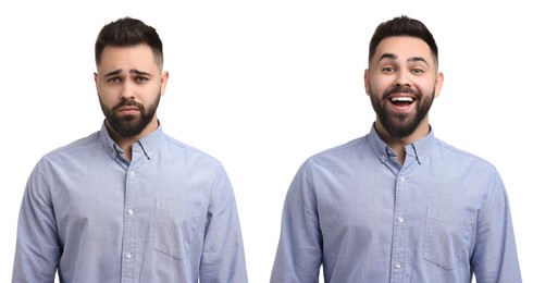
[[393, 54], [398, 61], [423, 58], [427, 63], [434, 64], [430, 46], [418, 37], [393, 36], [384, 38], [377, 45], [372, 62], [377, 63], [384, 54]]

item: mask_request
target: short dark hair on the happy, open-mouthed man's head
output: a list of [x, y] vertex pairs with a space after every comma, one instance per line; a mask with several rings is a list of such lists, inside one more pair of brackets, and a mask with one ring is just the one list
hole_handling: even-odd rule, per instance
[[375, 54], [377, 45], [383, 39], [392, 36], [412, 36], [424, 40], [430, 46], [435, 65], [438, 66], [438, 48], [430, 29], [422, 22], [406, 15], [383, 22], [375, 28], [374, 35], [370, 39], [369, 65], [372, 57]]

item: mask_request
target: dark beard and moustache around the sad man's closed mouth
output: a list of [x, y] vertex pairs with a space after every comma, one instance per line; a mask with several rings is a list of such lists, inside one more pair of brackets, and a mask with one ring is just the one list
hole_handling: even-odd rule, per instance
[[[108, 124], [122, 137], [133, 137], [140, 134], [146, 126], [152, 121], [153, 115], [159, 107], [159, 101], [161, 100], [161, 94], [159, 94], [148, 108], [145, 108], [141, 103], [135, 102], [134, 100], [123, 100], [121, 103], [114, 106], [112, 109], [106, 107], [100, 99], [100, 107], [102, 109], [103, 115], [108, 121]], [[133, 106], [139, 109], [138, 115], [119, 115], [117, 109], [125, 106]]]

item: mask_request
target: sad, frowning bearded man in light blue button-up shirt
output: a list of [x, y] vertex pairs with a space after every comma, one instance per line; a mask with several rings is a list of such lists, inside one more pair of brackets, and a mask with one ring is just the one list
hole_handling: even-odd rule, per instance
[[236, 201], [214, 158], [164, 134], [169, 73], [151, 26], [123, 17], [95, 46], [100, 131], [37, 163], [13, 282], [247, 282]]

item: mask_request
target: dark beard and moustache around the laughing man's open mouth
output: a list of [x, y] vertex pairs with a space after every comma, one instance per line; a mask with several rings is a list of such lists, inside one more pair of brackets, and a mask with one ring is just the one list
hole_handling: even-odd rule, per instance
[[[389, 111], [387, 109], [388, 97], [391, 94], [395, 93], [404, 93], [411, 94], [417, 98], [417, 108], [414, 111], [410, 113], [397, 113]], [[395, 138], [402, 138], [410, 136], [420, 122], [424, 120], [430, 111], [430, 108], [435, 99], [435, 88], [430, 96], [422, 96], [416, 89], [411, 89], [410, 87], [394, 87], [391, 90], [383, 94], [383, 98], [380, 100], [377, 96], [373, 93], [372, 88], [370, 89], [370, 101], [372, 102], [372, 108], [377, 114], [377, 119], [382, 123], [383, 127], [387, 131], [387, 133]]]

